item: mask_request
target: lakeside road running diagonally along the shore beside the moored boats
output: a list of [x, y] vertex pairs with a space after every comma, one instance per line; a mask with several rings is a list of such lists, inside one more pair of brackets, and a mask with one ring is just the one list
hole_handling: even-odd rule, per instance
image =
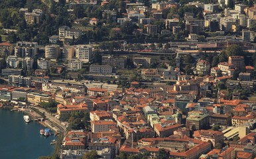
[[55, 117], [52, 117], [52, 115], [50, 115], [50, 113], [48, 113], [41, 107], [34, 107], [34, 106], [30, 106], [30, 107], [37, 109], [41, 113], [44, 113], [44, 115], [46, 116], [48, 121], [50, 121], [50, 123], [52, 123], [55, 127], [58, 127], [58, 129], [60, 129], [61, 131], [64, 132], [64, 134], [66, 134], [66, 127], [58, 119], [56, 119]]

